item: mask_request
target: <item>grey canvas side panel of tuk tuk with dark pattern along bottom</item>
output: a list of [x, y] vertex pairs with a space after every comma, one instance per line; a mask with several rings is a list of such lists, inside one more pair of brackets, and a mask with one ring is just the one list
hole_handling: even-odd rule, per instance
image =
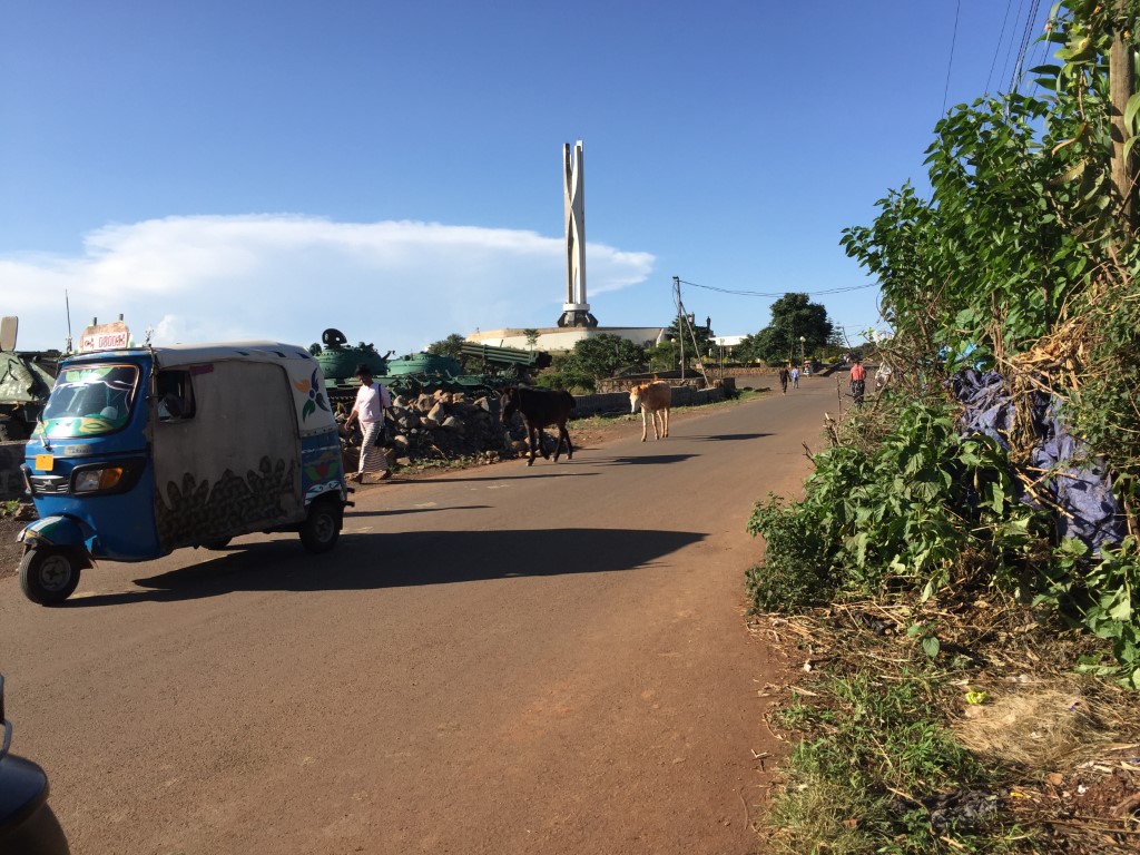
[[304, 515], [293, 394], [285, 370], [242, 360], [190, 367], [193, 416], [154, 424], [155, 518], [165, 548]]

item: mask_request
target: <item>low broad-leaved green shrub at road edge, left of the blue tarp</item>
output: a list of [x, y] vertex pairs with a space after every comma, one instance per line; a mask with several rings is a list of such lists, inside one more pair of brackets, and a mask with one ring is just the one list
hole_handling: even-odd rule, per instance
[[929, 596], [955, 575], [1007, 578], [1034, 552], [1043, 523], [1016, 499], [994, 440], [959, 437], [944, 401], [906, 402], [894, 417], [870, 451], [816, 455], [799, 502], [754, 508], [748, 530], [767, 543], [748, 572], [758, 609], [874, 593], [888, 579]]

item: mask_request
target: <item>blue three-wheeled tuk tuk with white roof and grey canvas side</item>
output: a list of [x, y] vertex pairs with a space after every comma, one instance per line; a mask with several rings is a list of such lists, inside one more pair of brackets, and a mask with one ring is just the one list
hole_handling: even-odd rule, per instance
[[43, 605], [71, 596], [95, 561], [282, 530], [324, 552], [350, 504], [320, 367], [277, 342], [60, 361], [24, 478], [40, 519], [21, 532], [19, 580]]

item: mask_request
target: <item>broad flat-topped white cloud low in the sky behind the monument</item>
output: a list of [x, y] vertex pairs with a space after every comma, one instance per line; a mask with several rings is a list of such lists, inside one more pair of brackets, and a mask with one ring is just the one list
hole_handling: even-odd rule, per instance
[[[274, 339], [337, 327], [405, 353], [477, 327], [548, 326], [564, 296], [564, 246], [534, 231], [300, 215], [171, 217], [107, 226], [78, 258], [0, 258], [19, 348], [62, 347], [120, 314], [156, 344]], [[589, 298], [644, 282], [653, 256], [588, 244]]]

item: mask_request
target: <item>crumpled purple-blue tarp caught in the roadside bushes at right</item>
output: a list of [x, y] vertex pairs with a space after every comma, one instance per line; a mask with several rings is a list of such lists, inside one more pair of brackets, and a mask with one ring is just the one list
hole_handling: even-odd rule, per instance
[[[984, 433], [1009, 450], [1013, 398], [1005, 377], [993, 370], [967, 368], [954, 377], [953, 390], [966, 407], [960, 423], [962, 435]], [[1093, 549], [1104, 543], [1119, 543], [1127, 526], [1102, 462], [1089, 456], [1088, 446], [1069, 432], [1056, 397], [1041, 391], [1029, 396], [1035, 439], [1029, 463], [1050, 473], [1041, 490], [1060, 508], [1057, 534], [1080, 538]], [[1043, 473], [1029, 474], [1036, 479]], [[1028, 494], [1021, 498], [1034, 504]]]

